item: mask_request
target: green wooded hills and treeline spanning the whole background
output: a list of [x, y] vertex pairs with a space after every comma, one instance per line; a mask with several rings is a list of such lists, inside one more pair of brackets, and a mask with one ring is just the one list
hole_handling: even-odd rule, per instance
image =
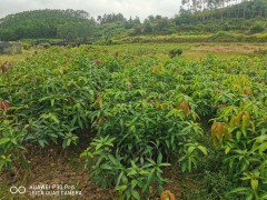
[[[144, 21], [138, 17], [126, 19], [121, 13], [109, 13], [93, 19], [81, 10], [26, 11], [0, 20], [0, 39], [61, 39], [78, 43], [102, 40], [108, 43], [111, 39], [122, 38], [127, 41], [137, 36], [218, 32], [253, 34], [266, 30], [266, 0], [184, 0], [178, 10], [174, 18], [148, 16]], [[246, 37], [243, 36], [243, 40], [249, 40], [249, 36]], [[225, 38], [227, 39], [228, 34]]]

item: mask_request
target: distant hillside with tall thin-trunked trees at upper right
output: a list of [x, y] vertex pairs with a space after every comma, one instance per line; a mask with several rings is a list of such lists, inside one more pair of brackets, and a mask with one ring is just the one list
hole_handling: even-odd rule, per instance
[[[267, 0], [184, 0], [176, 23], [267, 17]], [[188, 4], [189, 3], [189, 4]]]

